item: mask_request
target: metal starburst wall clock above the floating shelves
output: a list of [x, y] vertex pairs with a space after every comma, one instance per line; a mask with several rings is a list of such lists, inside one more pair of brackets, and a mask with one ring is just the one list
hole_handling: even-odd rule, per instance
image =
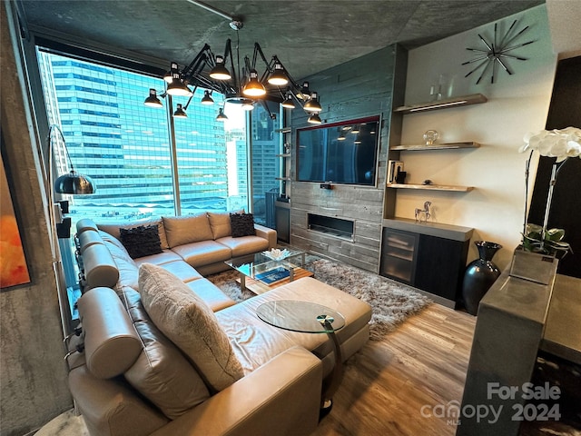
[[515, 54], [514, 50], [535, 42], [534, 39], [524, 43], [518, 41], [527, 32], [528, 25], [521, 30], [517, 30], [517, 21], [513, 21], [512, 25], [508, 27], [507, 32], [504, 33], [498, 28], [498, 23], [496, 23], [494, 25], [494, 37], [490, 40], [478, 34], [478, 38], [484, 46], [481, 48], [466, 48], [473, 52], [476, 57], [462, 63], [462, 65], [470, 65], [473, 67], [464, 77], [475, 73], [479, 74], [476, 81], [476, 84], [479, 84], [489, 74], [490, 83], [494, 84], [499, 71], [504, 70], [509, 75], [514, 74], [511, 63], [514, 61], [526, 61], [528, 59], [527, 57]]

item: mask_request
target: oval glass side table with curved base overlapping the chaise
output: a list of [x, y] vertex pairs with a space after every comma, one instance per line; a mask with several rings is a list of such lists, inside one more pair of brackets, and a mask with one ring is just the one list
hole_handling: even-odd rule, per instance
[[326, 333], [333, 342], [335, 364], [333, 371], [323, 380], [320, 418], [330, 412], [332, 396], [339, 388], [343, 377], [343, 359], [339, 340], [335, 332], [345, 326], [345, 318], [340, 312], [314, 302], [278, 300], [264, 302], [256, 308], [256, 314], [263, 321], [275, 327], [292, 332]]

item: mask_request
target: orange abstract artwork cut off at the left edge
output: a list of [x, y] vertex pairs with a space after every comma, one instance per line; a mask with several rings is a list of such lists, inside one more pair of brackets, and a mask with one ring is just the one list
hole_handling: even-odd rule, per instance
[[25, 251], [8, 189], [4, 164], [0, 180], [0, 287], [30, 282]]

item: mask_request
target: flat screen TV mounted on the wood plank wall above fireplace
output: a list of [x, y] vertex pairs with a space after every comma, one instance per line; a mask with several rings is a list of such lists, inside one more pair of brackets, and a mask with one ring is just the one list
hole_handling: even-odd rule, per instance
[[376, 185], [379, 116], [297, 129], [297, 181]]

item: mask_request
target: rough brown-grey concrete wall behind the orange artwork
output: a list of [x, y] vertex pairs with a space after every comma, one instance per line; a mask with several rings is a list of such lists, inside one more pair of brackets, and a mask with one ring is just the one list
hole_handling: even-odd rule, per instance
[[14, 185], [27, 285], [0, 293], [0, 433], [22, 435], [73, 405], [66, 385], [64, 346], [47, 226], [47, 202], [39, 173], [34, 122], [25, 98], [25, 72], [15, 59], [9, 15], [0, 5], [2, 47], [2, 154]]

